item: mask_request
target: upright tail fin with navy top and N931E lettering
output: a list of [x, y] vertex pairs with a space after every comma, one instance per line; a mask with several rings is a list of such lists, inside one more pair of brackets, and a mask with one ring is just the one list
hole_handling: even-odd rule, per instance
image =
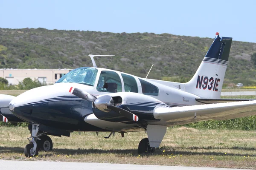
[[220, 98], [231, 42], [232, 38], [216, 33], [195, 75], [185, 83], [185, 91], [201, 98]]

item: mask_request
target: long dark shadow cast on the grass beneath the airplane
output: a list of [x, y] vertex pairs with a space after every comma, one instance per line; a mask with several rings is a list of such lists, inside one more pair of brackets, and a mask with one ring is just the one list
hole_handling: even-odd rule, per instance
[[[175, 148], [175, 150], [170, 150], [170, 147], [162, 147], [160, 149], [156, 149], [156, 151], [153, 154], [140, 154], [143, 156], [151, 156], [151, 155], [221, 155], [221, 156], [244, 156], [244, 154], [238, 154], [238, 153], [227, 153], [224, 154], [223, 152], [197, 152], [197, 151], [181, 151], [179, 148]], [[180, 147], [181, 149], [181, 147]], [[184, 149], [184, 148], [183, 148]], [[230, 147], [230, 148], [221, 148], [221, 147], [212, 147], [212, 148], [207, 148], [207, 147], [188, 147], [186, 149], [206, 149], [206, 150], [212, 150], [212, 149], [235, 149], [235, 150], [256, 150], [255, 148], [247, 148], [247, 147]], [[163, 152], [163, 150], [166, 150]], [[22, 147], [1, 147], [0, 146], [0, 153], [23, 153], [24, 148]], [[53, 156], [54, 154], [64, 154], [64, 155], [84, 155], [84, 154], [102, 154], [102, 153], [114, 153], [118, 155], [125, 155], [125, 154], [130, 154], [131, 156], [138, 156], [137, 149], [128, 149], [128, 150], [102, 150], [102, 149], [53, 149], [52, 152], [43, 152], [40, 151], [41, 154], [44, 154], [44, 156]]]

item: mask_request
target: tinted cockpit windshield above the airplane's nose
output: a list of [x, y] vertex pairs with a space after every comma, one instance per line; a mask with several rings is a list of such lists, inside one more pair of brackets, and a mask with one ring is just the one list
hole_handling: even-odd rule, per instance
[[56, 83], [59, 82], [73, 82], [80, 83], [84, 85], [94, 86], [98, 70], [96, 68], [83, 67], [76, 68], [70, 71], [68, 74], [64, 75]]

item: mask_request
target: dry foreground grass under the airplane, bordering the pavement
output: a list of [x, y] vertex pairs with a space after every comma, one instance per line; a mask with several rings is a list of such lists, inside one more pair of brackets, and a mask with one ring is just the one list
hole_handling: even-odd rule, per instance
[[108, 133], [74, 132], [70, 137], [51, 136], [53, 150], [26, 158], [23, 148], [30, 136], [27, 128], [0, 127], [0, 160], [76, 161], [121, 164], [152, 164], [196, 167], [256, 169], [256, 132], [241, 130], [198, 130], [169, 128], [154, 154], [137, 154], [137, 146], [146, 138], [144, 132]]

